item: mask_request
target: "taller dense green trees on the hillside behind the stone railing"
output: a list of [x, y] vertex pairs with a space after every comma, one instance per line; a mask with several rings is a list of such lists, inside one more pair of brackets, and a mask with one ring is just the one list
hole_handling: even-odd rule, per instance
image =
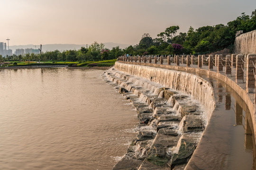
[[132, 55], [154, 55], [210, 53], [224, 48], [232, 51], [237, 31], [243, 30], [243, 33], [247, 33], [256, 30], [256, 10], [251, 16], [242, 13], [228, 22], [227, 26], [202, 26], [196, 30], [190, 26], [187, 33], [176, 35], [178, 30], [179, 26], [170, 26], [157, 34], [155, 39], [144, 34], [139, 44], [129, 46], [125, 52]]

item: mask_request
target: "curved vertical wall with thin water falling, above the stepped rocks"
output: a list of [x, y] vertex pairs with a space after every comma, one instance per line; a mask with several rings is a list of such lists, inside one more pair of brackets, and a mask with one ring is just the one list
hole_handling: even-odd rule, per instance
[[115, 63], [115, 68], [119, 71], [134, 76], [140, 76], [155, 83], [164, 85], [183, 93], [190, 94], [193, 99], [199, 101], [207, 111], [209, 121], [212, 111], [215, 109], [213, 89], [209, 82], [199, 76], [185, 72], [154, 68], [140, 65]]

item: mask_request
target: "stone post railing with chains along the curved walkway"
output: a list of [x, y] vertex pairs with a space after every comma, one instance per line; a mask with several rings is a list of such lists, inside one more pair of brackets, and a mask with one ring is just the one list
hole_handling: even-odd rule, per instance
[[[256, 54], [232, 54], [227, 56], [222, 55], [174, 55], [174, 56], [121, 56], [119, 61], [152, 63], [152, 61], [160, 65], [174, 65], [183, 67], [198, 66], [198, 69], [216, 70], [217, 73], [224, 73], [226, 76], [231, 76], [232, 70], [236, 70], [236, 83], [244, 83], [246, 74], [246, 91], [247, 93], [256, 92]], [[193, 66], [194, 65], [194, 66]], [[202, 68], [202, 66], [204, 66]], [[255, 94], [256, 95], [256, 94]]]

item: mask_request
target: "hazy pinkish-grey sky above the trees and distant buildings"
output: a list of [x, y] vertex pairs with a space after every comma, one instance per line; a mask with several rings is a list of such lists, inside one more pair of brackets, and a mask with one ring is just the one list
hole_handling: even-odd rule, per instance
[[255, 9], [256, 0], [0, 0], [0, 42], [135, 45], [144, 33], [226, 25]]

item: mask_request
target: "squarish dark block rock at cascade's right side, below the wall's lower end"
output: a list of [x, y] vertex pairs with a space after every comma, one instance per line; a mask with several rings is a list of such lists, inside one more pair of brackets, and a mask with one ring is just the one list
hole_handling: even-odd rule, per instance
[[183, 131], [187, 132], [201, 132], [204, 126], [200, 116], [186, 115], [183, 121]]

